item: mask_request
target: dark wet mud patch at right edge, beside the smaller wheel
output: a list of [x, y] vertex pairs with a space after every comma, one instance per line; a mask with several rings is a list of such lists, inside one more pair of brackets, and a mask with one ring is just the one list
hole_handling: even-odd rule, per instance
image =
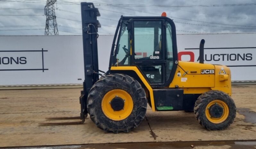
[[237, 112], [245, 116], [244, 122], [256, 124], [256, 112], [251, 111], [249, 108], [237, 108]]

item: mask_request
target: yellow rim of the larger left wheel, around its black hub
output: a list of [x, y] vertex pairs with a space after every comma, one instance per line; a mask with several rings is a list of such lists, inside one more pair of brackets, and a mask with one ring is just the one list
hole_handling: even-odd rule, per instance
[[[124, 100], [124, 108], [120, 111], [115, 111], [112, 109], [110, 102], [113, 98], [119, 97]], [[121, 121], [126, 119], [131, 113], [133, 109], [133, 101], [132, 97], [129, 93], [124, 90], [116, 89], [110, 90], [103, 97], [101, 102], [101, 108], [103, 113], [111, 120]]]

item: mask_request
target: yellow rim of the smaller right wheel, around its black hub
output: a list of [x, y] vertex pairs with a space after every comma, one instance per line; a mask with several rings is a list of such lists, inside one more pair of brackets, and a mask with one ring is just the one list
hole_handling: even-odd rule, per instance
[[[210, 115], [209, 109], [210, 109], [210, 107], [211, 107], [212, 105], [215, 105], [215, 104], [218, 104], [219, 106], [221, 106], [221, 107], [223, 108], [223, 114], [222, 114], [222, 116], [219, 117], [219, 118], [215, 118], [215, 117], [212, 117], [212, 116]], [[222, 101], [222, 100], [213, 100], [213, 101], [211, 101], [211, 102], [206, 106], [206, 108], [205, 108], [205, 115], [206, 115], [206, 118], [207, 118], [210, 122], [212, 122], [212, 123], [218, 124], [218, 123], [224, 122], [224, 121], [227, 119], [228, 114], [229, 114], [229, 108], [228, 108], [226, 102], [224, 102], [224, 101]]]

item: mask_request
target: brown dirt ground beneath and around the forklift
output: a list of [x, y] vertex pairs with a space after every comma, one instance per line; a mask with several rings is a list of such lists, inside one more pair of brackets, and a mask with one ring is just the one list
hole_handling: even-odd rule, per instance
[[147, 118], [130, 133], [105, 133], [90, 118], [82, 125], [38, 125], [45, 117], [79, 116], [80, 90], [0, 90], [0, 147], [256, 140], [256, 85], [233, 86], [237, 115], [222, 131], [202, 128], [193, 113], [152, 112], [150, 107]]

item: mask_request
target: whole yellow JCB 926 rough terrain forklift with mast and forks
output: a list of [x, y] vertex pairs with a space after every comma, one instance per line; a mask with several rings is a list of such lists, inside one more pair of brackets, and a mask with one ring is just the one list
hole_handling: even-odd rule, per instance
[[107, 72], [98, 70], [100, 13], [93, 3], [81, 3], [81, 15], [85, 80], [81, 115], [75, 118], [82, 121], [42, 124], [82, 124], [90, 114], [106, 132], [130, 132], [144, 119], [147, 105], [152, 111], [193, 111], [209, 130], [225, 129], [234, 121], [230, 69], [204, 64], [204, 40], [200, 63], [179, 61], [175, 24], [166, 13], [159, 17], [121, 16]]

